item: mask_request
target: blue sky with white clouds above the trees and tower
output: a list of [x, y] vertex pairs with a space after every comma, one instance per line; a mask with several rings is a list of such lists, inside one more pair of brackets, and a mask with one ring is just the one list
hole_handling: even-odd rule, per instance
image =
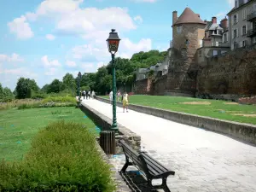
[[172, 11], [187, 6], [218, 21], [235, 0], [0, 0], [0, 83], [15, 89], [20, 77], [40, 87], [66, 73], [74, 77], [108, 64], [106, 39], [121, 38], [116, 56], [169, 48]]

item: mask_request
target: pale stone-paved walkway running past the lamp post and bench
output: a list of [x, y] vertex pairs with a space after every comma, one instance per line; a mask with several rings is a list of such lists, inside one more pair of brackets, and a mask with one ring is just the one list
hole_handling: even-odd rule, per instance
[[[112, 106], [82, 102], [112, 118]], [[230, 137], [148, 114], [117, 108], [118, 123], [142, 137], [142, 147], [176, 172], [173, 191], [256, 191], [256, 147]]]

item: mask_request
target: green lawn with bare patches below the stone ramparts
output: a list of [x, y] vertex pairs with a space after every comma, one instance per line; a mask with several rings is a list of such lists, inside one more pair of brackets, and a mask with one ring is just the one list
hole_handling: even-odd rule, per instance
[[[108, 98], [108, 96], [104, 96]], [[130, 104], [198, 114], [256, 125], [256, 106], [182, 96], [130, 96]], [[210, 102], [207, 105], [182, 102]], [[247, 115], [247, 116], [242, 116]]]

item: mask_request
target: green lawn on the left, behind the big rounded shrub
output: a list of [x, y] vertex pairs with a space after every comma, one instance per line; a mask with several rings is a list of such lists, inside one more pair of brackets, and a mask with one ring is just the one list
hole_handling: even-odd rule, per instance
[[30, 148], [32, 137], [49, 122], [64, 119], [95, 128], [96, 125], [84, 116], [74, 107], [0, 111], [0, 160], [21, 160]]

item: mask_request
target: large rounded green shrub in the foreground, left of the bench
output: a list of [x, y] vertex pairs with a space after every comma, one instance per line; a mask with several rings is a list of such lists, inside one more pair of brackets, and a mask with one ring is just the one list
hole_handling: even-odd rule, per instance
[[0, 191], [93, 191], [115, 189], [96, 137], [83, 125], [52, 123], [32, 140], [24, 160], [0, 165]]

